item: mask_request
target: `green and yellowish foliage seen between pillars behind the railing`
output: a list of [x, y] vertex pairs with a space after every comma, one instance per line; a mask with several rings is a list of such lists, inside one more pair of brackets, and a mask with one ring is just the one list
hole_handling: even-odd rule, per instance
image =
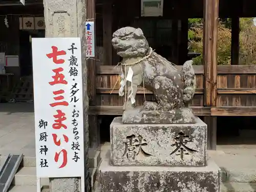
[[[201, 53], [193, 58], [195, 65], [203, 62], [203, 24], [202, 19], [188, 19], [188, 40], [190, 51]], [[231, 19], [219, 19], [218, 28], [218, 65], [230, 65], [231, 62]], [[256, 64], [256, 27], [253, 18], [240, 18], [240, 64]]]

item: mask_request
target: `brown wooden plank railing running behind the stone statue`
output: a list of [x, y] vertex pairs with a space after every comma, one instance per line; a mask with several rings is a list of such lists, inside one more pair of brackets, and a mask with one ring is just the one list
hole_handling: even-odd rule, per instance
[[[178, 70], [182, 66], [176, 66]], [[204, 66], [194, 66], [196, 94], [190, 106], [197, 116], [256, 116], [256, 66], [218, 66], [216, 106], [203, 106]], [[124, 98], [119, 97], [118, 74], [120, 67], [99, 66], [96, 77], [96, 105], [90, 106], [90, 114], [121, 115]], [[115, 89], [113, 90], [116, 84]], [[112, 91], [113, 90], [113, 91]], [[111, 94], [112, 92], [112, 94]], [[144, 102], [140, 87], [136, 96], [138, 105]], [[154, 100], [145, 90], [146, 100]]]

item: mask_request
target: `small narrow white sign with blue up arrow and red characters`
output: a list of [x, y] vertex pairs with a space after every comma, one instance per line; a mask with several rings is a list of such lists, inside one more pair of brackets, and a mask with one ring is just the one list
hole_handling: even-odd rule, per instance
[[86, 22], [86, 56], [95, 57], [94, 22]]

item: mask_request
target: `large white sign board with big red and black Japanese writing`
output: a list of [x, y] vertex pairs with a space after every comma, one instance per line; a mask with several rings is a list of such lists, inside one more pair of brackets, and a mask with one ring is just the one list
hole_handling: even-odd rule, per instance
[[36, 176], [84, 181], [80, 38], [32, 38], [32, 53]]

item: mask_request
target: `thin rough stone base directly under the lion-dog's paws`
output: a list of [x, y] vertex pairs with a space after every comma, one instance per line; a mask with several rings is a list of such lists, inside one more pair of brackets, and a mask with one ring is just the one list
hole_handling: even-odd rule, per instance
[[[146, 101], [147, 103], [150, 103]], [[124, 111], [122, 122], [140, 123], [195, 123], [193, 110], [190, 108], [179, 108], [170, 111], [145, 110], [143, 106]]]

